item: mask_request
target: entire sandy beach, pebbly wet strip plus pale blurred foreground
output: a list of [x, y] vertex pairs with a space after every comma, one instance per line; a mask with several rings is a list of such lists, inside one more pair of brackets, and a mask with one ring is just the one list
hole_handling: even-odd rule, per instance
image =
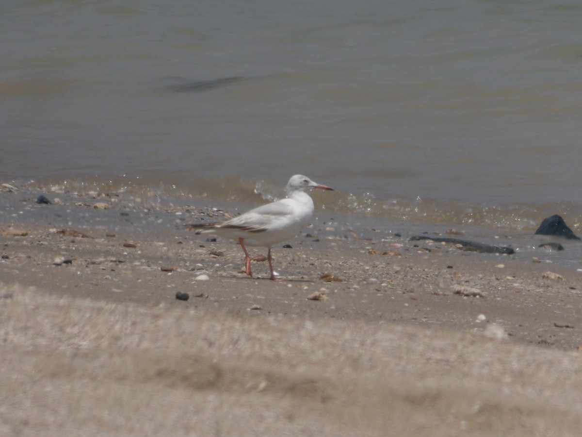
[[315, 220], [270, 281], [184, 227], [226, 209], [13, 188], [2, 435], [579, 435], [581, 273], [549, 252]]

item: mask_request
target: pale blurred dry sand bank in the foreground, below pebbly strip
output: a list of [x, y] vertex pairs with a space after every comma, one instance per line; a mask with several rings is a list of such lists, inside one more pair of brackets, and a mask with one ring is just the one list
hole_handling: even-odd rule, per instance
[[18, 286], [0, 295], [1, 435], [577, 435], [582, 426], [577, 353]]

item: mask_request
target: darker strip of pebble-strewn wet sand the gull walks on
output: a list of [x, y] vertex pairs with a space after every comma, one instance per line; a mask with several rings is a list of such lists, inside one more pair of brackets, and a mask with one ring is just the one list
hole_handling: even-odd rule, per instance
[[[582, 298], [582, 273], [579, 265], [554, 263], [555, 251], [532, 252], [539, 258], [468, 252], [432, 241], [426, 232], [411, 241], [398, 232], [315, 219], [296, 238], [274, 247], [275, 270], [286, 280], [273, 282], [265, 280], [267, 262], [253, 261], [254, 278], [243, 273], [236, 242], [212, 241], [213, 236], [196, 235], [184, 226], [228, 218], [226, 210], [172, 203], [160, 208], [123, 195], [83, 199], [62, 193], [52, 205], [34, 203], [33, 193], [12, 199], [4, 193], [1, 199], [4, 284], [72, 297], [241, 313], [259, 305], [257, 313], [449, 329], [478, 330], [494, 323], [527, 344], [564, 350], [582, 345], [582, 317], [574, 311]], [[488, 242], [503, 245], [494, 238]], [[251, 256], [264, 259], [263, 249], [250, 248]], [[203, 276], [208, 280], [196, 279]], [[243, 290], [239, 297], [238, 288]], [[177, 301], [176, 292], [189, 293], [189, 301]], [[285, 301], [289, 292], [290, 306]], [[310, 302], [307, 297], [314, 292], [325, 294], [325, 300]], [[553, 302], [560, 302], [562, 311], [552, 308]], [[527, 314], [528, 305], [535, 305], [535, 317]]]

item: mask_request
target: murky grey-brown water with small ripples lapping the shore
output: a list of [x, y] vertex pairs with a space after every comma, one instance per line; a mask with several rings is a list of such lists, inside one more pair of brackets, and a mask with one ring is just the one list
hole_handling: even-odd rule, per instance
[[0, 182], [582, 221], [575, 1], [4, 0]]

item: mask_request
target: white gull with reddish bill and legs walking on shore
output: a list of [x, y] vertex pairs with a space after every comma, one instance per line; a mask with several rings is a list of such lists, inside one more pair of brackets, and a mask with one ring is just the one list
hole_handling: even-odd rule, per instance
[[232, 239], [238, 239], [244, 252], [245, 272], [253, 277], [251, 257], [246, 246], [268, 248], [267, 260], [271, 270], [271, 278], [275, 280], [271, 246], [292, 238], [299, 233], [303, 225], [313, 216], [313, 200], [307, 194], [312, 188], [332, 190], [329, 186], [316, 184], [310, 178], [296, 174], [289, 179], [287, 197], [276, 202], [267, 203], [223, 221], [222, 223], [192, 224], [190, 228], [203, 228], [201, 234], [216, 234]]

